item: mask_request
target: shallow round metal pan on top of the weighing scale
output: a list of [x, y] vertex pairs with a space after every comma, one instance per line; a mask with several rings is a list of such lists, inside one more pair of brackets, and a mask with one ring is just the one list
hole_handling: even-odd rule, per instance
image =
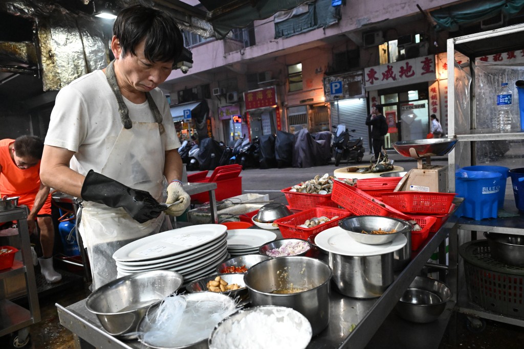
[[[445, 155], [455, 147], [456, 142], [457, 139], [454, 138], [418, 139], [395, 142], [393, 143], [393, 148], [395, 148], [400, 155], [419, 159], [425, 156]], [[414, 149], [414, 154], [411, 154], [409, 151], [411, 148]]]

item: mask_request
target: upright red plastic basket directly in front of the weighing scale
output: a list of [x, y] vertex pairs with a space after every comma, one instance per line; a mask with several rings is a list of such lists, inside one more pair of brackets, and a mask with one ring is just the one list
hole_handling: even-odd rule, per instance
[[385, 204], [406, 213], [446, 214], [455, 193], [395, 192], [382, 195]]

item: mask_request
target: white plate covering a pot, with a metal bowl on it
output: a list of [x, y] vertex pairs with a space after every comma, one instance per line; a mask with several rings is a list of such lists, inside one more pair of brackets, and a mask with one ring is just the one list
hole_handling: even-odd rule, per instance
[[350, 234], [340, 227], [326, 229], [315, 237], [316, 245], [322, 250], [345, 256], [375, 256], [389, 253], [401, 249], [407, 242], [406, 237], [399, 234], [393, 241], [386, 244], [363, 244], [356, 242]]

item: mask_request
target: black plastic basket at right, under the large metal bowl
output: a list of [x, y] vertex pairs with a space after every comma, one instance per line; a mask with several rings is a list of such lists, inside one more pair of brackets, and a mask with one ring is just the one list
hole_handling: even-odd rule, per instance
[[459, 253], [464, 258], [468, 298], [489, 311], [524, 318], [524, 267], [494, 260], [486, 240], [466, 242]]

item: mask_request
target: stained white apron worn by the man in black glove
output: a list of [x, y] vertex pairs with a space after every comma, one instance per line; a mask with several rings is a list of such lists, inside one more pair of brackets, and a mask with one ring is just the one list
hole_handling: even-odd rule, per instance
[[[107, 70], [112, 68], [112, 64]], [[114, 74], [112, 69], [111, 73]], [[108, 82], [112, 86], [110, 78], [108, 76]], [[116, 92], [113, 88], [113, 92], [119, 95], [116, 99], [121, 117], [123, 109], [128, 114], [127, 107], [122, 107], [124, 102], [119, 90]], [[165, 132], [161, 115], [150, 95], [148, 102], [157, 122], [131, 122], [129, 116], [124, 115], [123, 118], [127, 117], [127, 120], [122, 119], [124, 127], [118, 134], [101, 173], [131, 188], [145, 190], [160, 201], [165, 163], [162, 137], [165, 137]], [[123, 208], [111, 208], [91, 201], [84, 201], [82, 205], [79, 228], [84, 246], [88, 249], [94, 291], [117, 278], [113, 253], [129, 242], [161, 231], [165, 214], [161, 213], [156, 219], [139, 223]], [[169, 225], [170, 221], [166, 219], [163, 230], [172, 229]]]

